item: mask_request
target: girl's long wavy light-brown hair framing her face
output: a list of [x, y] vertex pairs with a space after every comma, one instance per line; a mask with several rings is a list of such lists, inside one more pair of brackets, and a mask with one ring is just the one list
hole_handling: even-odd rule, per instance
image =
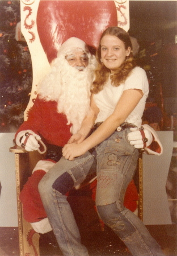
[[[104, 35], [112, 35], [116, 36], [119, 38], [121, 41], [124, 42], [125, 44], [125, 49], [130, 47], [131, 51], [130, 54], [127, 58], [125, 58], [125, 61], [123, 64], [117, 68], [117, 71], [111, 75], [111, 84], [113, 86], [119, 86], [121, 83], [123, 83], [127, 77], [130, 74], [130, 71], [134, 67], [136, 67], [136, 63], [133, 59], [133, 51], [132, 51], [132, 43], [130, 40], [129, 34], [123, 30], [123, 28], [120, 27], [108, 27], [102, 34], [100, 38], [100, 42], [102, 41], [102, 38]], [[110, 74], [110, 69], [106, 68], [104, 64], [101, 62], [101, 45], [99, 42], [99, 47], [98, 50], [96, 51], [96, 59], [98, 61], [98, 66], [95, 69], [95, 80], [92, 84], [92, 93], [98, 93], [100, 90], [103, 89], [104, 84], [106, 84], [109, 74]]]

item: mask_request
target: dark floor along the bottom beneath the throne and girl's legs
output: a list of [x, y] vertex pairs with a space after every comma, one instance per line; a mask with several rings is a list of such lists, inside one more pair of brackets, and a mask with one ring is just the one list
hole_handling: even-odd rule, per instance
[[[177, 228], [176, 225], [153, 225], [147, 226], [151, 235], [161, 245], [167, 256], [177, 256]], [[82, 241], [85, 243], [90, 256], [129, 256], [125, 245], [112, 233], [111, 230], [90, 231], [82, 234]], [[44, 250], [44, 249], [43, 249]], [[50, 253], [41, 255], [61, 255], [58, 249], [53, 246]], [[0, 228], [0, 255], [19, 256], [18, 228]], [[30, 255], [33, 256], [33, 255]]]

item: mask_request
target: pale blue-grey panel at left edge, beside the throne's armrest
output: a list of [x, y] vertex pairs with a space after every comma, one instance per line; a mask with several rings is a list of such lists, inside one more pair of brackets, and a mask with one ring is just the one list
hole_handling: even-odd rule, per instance
[[0, 226], [18, 226], [15, 181], [15, 156], [9, 152], [14, 146], [15, 133], [0, 133]]

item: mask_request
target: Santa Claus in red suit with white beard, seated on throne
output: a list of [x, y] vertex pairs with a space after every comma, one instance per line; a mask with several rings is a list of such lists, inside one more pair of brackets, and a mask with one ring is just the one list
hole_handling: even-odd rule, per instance
[[[52, 230], [39, 196], [39, 181], [61, 158], [62, 147], [68, 143], [72, 134], [78, 132], [88, 113], [95, 67], [95, 56], [88, 51], [85, 42], [74, 37], [66, 40], [60, 47], [50, 72], [40, 82], [37, 98], [27, 121], [15, 134], [16, 144], [27, 151], [39, 150], [40, 141], [47, 146], [45, 160], [36, 164], [32, 176], [20, 193], [23, 216], [38, 233], [44, 234]], [[155, 131], [146, 126], [143, 134], [146, 140], [142, 138], [142, 132], [138, 128], [132, 131], [129, 135], [130, 143], [137, 148], [144, 147], [152, 154], [161, 154], [162, 145]], [[84, 138], [87, 136], [80, 135]], [[149, 146], [154, 143], [155, 151]], [[131, 191], [132, 186], [134, 183], [128, 187]], [[134, 211], [137, 208], [136, 200], [137, 193], [134, 193], [133, 200], [128, 199], [127, 207]]]

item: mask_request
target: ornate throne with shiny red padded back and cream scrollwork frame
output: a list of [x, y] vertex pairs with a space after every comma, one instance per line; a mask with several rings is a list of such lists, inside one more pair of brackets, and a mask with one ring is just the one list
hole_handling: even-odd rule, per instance
[[[24, 120], [37, 95], [37, 84], [50, 69], [61, 44], [71, 36], [86, 42], [94, 53], [102, 32], [109, 26], [129, 28], [129, 2], [117, 1], [44, 1], [20, 0], [21, 31], [31, 53], [33, 83]], [[118, 17], [118, 18], [117, 18]], [[120, 18], [119, 18], [120, 17]], [[23, 218], [20, 191], [33, 167], [44, 155], [11, 147], [15, 152], [20, 256], [40, 255], [39, 234]], [[138, 163], [138, 214], [142, 219], [142, 159]], [[94, 187], [95, 183], [92, 183]]]

